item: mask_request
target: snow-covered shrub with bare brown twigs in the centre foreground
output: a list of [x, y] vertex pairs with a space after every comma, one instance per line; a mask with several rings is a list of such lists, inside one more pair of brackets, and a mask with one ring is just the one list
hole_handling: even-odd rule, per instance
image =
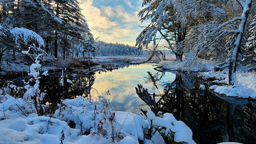
[[[106, 91], [106, 95], [110, 95]], [[115, 107], [112, 107], [108, 99], [99, 96], [100, 101], [90, 101], [81, 96], [73, 100], [63, 100], [58, 104], [54, 116], [67, 121], [68, 124], [75, 123], [81, 134], [99, 135], [115, 143], [123, 139], [121, 126], [116, 120]], [[109, 142], [110, 142], [109, 141]]]

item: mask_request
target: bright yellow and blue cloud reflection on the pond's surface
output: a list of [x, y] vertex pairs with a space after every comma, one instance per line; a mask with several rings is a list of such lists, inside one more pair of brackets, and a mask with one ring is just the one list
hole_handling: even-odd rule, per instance
[[[131, 106], [138, 106], [143, 103], [142, 100], [138, 99], [136, 94], [135, 86], [142, 83], [145, 86], [150, 87], [151, 84], [144, 81], [144, 76], [148, 73], [147, 71], [152, 71], [156, 64], [141, 64], [132, 65], [123, 69], [115, 69], [111, 72], [101, 72], [96, 73], [95, 83], [93, 88], [96, 89], [99, 94], [105, 93], [109, 90], [111, 96], [108, 97], [110, 102], [116, 106], [117, 110], [129, 111]], [[174, 80], [175, 74], [169, 73], [164, 76], [165, 79], [170, 81]], [[160, 80], [162, 83], [165, 79]], [[161, 92], [163, 86], [158, 88]], [[156, 89], [152, 89], [149, 92], [156, 92]]]

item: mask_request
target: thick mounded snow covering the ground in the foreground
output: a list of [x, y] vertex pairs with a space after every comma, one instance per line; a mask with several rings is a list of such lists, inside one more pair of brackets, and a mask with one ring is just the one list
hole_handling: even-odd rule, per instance
[[[159, 143], [162, 136], [157, 132], [152, 140], [144, 138], [148, 127], [166, 128], [162, 132], [174, 140], [194, 144], [192, 131], [172, 114], [156, 117], [148, 111], [148, 119], [131, 111], [112, 111], [100, 102], [89, 101], [81, 96], [63, 100], [54, 116], [38, 116], [30, 100], [15, 99], [9, 94], [0, 95], [0, 143]], [[103, 100], [104, 101], [104, 100]], [[65, 106], [65, 107], [64, 107]], [[111, 117], [112, 116], [112, 117]], [[112, 119], [114, 118], [114, 120]], [[151, 121], [152, 120], [152, 124]], [[69, 124], [75, 123], [74, 128]], [[85, 133], [88, 135], [85, 135]], [[114, 135], [112, 135], [114, 134]], [[162, 142], [163, 143], [163, 140]]]

